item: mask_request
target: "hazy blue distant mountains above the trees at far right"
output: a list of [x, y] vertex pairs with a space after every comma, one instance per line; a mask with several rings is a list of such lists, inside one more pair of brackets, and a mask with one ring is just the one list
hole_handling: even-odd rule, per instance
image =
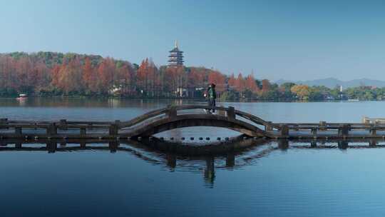
[[372, 79], [354, 79], [351, 81], [341, 81], [339, 79], [327, 78], [327, 79], [316, 79], [309, 81], [288, 81], [280, 79], [275, 81], [276, 84], [284, 84], [287, 82], [292, 82], [294, 84], [306, 84], [308, 86], [326, 86], [328, 88], [334, 88], [337, 85], [342, 85], [342, 87], [356, 87], [356, 86], [376, 86], [376, 87], [385, 87], [385, 81], [372, 80]]

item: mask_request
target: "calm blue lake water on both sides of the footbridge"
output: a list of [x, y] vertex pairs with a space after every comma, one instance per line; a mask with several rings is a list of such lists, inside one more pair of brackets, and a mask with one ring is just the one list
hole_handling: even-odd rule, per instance
[[[200, 102], [177, 101], [177, 104]], [[0, 99], [0, 118], [113, 121], [170, 101]], [[385, 102], [224, 103], [277, 122], [360, 122]], [[195, 127], [165, 136], [234, 136]], [[383, 216], [385, 144], [268, 142], [227, 156], [174, 156], [122, 143], [0, 151], [1, 216]], [[314, 145], [314, 144], [313, 144]], [[44, 147], [45, 144], [25, 144]], [[7, 147], [13, 147], [12, 145]], [[104, 146], [108, 147], [108, 146]], [[1, 147], [0, 146], [0, 150]]]

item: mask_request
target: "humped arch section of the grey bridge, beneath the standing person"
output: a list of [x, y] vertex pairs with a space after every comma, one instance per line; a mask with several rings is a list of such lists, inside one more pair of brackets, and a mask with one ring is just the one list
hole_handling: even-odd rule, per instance
[[[118, 123], [121, 136], [148, 137], [163, 131], [190, 126], [213, 126], [229, 128], [251, 137], [273, 136], [259, 126], [274, 126], [249, 113], [237, 111], [233, 107], [215, 107], [217, 114], [206, 113], [209, 106], [169, 106], [138, 116], [131, 121]], [[241, 118], [239, 118], [239, 117]]]

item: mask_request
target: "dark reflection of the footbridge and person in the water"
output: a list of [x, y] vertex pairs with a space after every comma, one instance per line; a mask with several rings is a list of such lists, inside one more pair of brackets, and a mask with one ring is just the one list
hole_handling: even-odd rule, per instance
[[[202, 156], [187, 156], [173, 152], [172, 148], [164, 150], [162, 147], [171, 147], [175, 143], [165, 141], [100, 141], [95, 140], [41, 140], [41, 141], [20, 141], [2, 140], [0, 142], [0, 153], [7, 151], [26, 151], [26, 152], [77, 152], [77, 151], [110, 151], [111, 153], [125, 152], [130, 153], [136, 158], [149, 163], [163, 165], [170, 170], [182, 168], [183, 171], [202, 171], [205, 183], [208, 187], [215, 181], [215, 171], [217, 169], [237, 169], [244, 166], [253, 165], [260, 158], [268, 156], [274, 151], [287, 151], [292, 149], [332, 149], [339, 148], [347, 150], [349, 148], [385, 148], [384, 140], [376, 139], [346, 139], [346, 140], [300, 140], [289, 141], [279, 140], [255, 140], [248, 138], [245, 140], [233, 141], [233, 143], [250, 143], [248, 148], [242, 151], [228, 151], [212, 155], [208, 153]], [[156, 143], [163, 143], [162, 146]], [[234, 144], [235, 145], [235, 144]], [[159, 149], [160, 147], [160, 149]], [[188, 146], [185, 146], [188, 148]]]

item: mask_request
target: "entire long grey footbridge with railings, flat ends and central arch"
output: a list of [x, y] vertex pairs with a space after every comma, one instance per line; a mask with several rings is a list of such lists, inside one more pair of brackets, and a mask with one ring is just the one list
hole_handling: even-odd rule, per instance
[[[215, 109], [217, 113], [206, 113], [206, 109]], [[0, 118], [0, 139], [135, 139], [191, 126], [229, 128], [258, 138], [385, 138], [385, 124], [369, 119], [364, 123], [272, 123], [231, 106], [185, 105], [150, 111], [130, 121], [14, 121]]]

